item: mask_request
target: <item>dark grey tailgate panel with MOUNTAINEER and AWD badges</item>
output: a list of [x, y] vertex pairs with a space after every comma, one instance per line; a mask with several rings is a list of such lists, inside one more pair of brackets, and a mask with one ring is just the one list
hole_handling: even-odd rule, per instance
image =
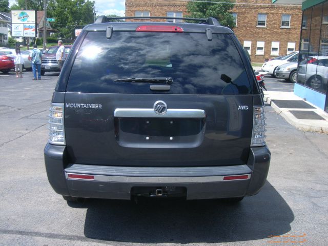
[[108, 166], [241, 165], [249, 155], [252, 105], [251, 95], [67, 92], [69, 161]]

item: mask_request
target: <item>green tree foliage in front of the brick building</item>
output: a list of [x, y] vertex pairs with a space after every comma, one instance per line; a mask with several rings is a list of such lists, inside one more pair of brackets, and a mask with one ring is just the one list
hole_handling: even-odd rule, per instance
[[235, 26], [234, 18], [229, 11], [234, 7], [234, 2], [234, 0], [203, 0], [203, 2], [188, 2], [188, 17], [215, 17], [222, 26], [233, 28]]

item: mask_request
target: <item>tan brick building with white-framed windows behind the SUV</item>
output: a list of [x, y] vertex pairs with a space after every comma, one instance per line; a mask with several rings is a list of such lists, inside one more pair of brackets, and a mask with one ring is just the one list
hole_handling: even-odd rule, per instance
[[[126, 16], [144, 16], [145, 19], [147, 16], [183, 17], [188, 14], [186, 6], [184, 1], [126, 0]], [[298, 50], [301, 5], [277, 5], [271, 0], [236, 0], [231, 12], [237, 25], [234, 32], [253, 62], [262, 63], [265, 59]]]

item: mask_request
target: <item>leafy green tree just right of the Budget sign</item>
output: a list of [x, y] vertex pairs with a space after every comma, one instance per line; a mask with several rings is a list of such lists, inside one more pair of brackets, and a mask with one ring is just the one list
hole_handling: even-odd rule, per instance
[[75, 29], [93, 23], [94, 2], [89, 0], [51, 0], [48, 16], [55, 18], [52, 27], [59, 32], [57, 37], [74, 38]]

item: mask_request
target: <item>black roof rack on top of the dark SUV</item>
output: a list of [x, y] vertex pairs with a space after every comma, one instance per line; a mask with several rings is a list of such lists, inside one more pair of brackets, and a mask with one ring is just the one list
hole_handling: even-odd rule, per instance
[[182, 19], [182, 20], [198, 20], [199, 24], [208, 24], [212, 26], [221, 26], [220, 23], [217, 21], [214, 17], [209, 18], [185, 18], [185, 17], [167, 17], [167, 16], [134, 16], [134, 17], [107, 17], [105, 15], [100, 15], [94, 23], [107, 23], [110, 22], [113, 19]]

